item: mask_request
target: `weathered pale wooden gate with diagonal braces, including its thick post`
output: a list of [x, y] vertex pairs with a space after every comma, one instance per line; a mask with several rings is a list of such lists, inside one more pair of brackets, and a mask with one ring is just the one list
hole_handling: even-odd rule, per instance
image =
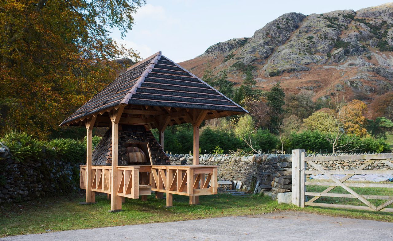
[[[305, 156], [305, 150], [296, 149], [292, 151], [292, 204], [304, 208], [305, 206], [320, 206], [320, 207], [331, 207], [331, 208], [349, 208], [358, 210], [371, 210], [381, 212], [393, 212], [393, 208], [386, 208], [388, 205], [393, 203], [393, 196], [382, 196], [382, 195], [360, 195], [356, 193], [350, 187], [371, 187], [371, 188], [393, 188], [393, 184], [385, 183], [348, 183], [345, 182], [349, 178], [356, 174], [391, 174], [392, 170], [368, 170], [366, 167], [370, 166], [376, 161], [384, 163], [386, 166], [393, 167], [392, 159], [393, 154], [369, 154], [369, 155], [337, 155], [337, 156]], [[354, 161], [354, 160], [365, 160], [365, 162], [354, 170], [325, 170], [320, 165], [316, 164], [317, 161]], [[307, 170], [307, 165], [310, 169]], [[324, 174], [330, 182], [310, 182], [307, 181], [307, 175], [310, 174]], [[345, 177], [337, 178], [333, 174], [345, 174]], [[307, 185], [312, 186], [327, 186], [327, 188], [321, 192], [307, 192]], [[342, 187], [349, 194], [344, 193], [330, 193], [336, 187]], [[306, 200], [306, 196], [314, 196], [310, 200]], [[366, 206], [354, 206], [344, 204], [330, 204], [315, 202], [320, 197], [344, 197], [344, 198], [356, 198], [362, 201]], [[387, 200], [379, 206], [375, 206], [367, 199], [381, 199]]]

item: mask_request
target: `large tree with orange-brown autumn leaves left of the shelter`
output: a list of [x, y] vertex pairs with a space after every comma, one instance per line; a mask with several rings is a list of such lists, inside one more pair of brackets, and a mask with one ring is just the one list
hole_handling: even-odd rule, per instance
[[[116, 44], [143, 0], [25, 0], [0, 4], [1, 104], [9, 129], [48, 138], [59, 123], [112, 81], [115, 59], [138, 55]], [[3, 128], [1, 132], [4, 132]], [[61, 133], [59, 133], [61, 134]]]

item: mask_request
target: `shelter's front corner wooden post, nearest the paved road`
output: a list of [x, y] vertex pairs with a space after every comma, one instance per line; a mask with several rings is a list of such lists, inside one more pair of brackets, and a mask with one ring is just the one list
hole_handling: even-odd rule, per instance
[[110, 120], [112, 121], [112, 186], [110, 195], [110, 212], [121, 210], [121, 197], [118, 196], [120, 184], [118, 171], [118, 145], [119, 145], [119, 120], [123, 113], [124, 105], [119, 106], [117, 110], [112, 110]]

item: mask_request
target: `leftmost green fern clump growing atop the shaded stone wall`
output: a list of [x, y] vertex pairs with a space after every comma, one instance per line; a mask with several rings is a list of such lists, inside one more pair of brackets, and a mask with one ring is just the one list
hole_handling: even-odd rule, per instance
[[9, 132], [1, 140], [9, 148], [14, 160], [36, 160], [42, 157], [44, 142], [34, 139], [26, 132]]

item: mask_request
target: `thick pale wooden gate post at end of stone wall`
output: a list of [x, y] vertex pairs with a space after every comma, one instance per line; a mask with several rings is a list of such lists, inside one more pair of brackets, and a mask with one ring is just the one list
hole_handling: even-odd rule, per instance
[[[303, 186], [304, 195], [304, 182], [301, 183], [301, 168], [304, 167], [304, 158], [302, 165], [301, 154], [305, 153], [304, 149], [292, 150], [292, 204], [300, 207], [301, 206], [301, 186]], [[304, 206], [304, 199], [303, 199]]]

